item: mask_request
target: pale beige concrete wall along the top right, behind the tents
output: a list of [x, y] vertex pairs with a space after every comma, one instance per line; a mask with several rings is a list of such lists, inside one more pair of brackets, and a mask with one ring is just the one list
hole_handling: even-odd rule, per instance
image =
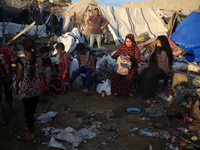
[[121, 3], [121, 7], [155, 7], [166, 10], [200, 9], [200, 0], [147, 0]]

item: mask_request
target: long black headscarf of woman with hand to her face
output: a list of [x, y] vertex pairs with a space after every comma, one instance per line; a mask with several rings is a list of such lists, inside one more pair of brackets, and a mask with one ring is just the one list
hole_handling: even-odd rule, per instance
[[164, 35], [161, 35], [161, 36], [157, 37], [157, 40], [160, 40], [160, 42], [162, 44], [161, 50], [166, 52], [167, 57], [169, 59], [169, 65], [172, 66], [172, 61], [173, 61], [172, 50], [169, 45], [169, 41], [168, 41], [167, 37]]

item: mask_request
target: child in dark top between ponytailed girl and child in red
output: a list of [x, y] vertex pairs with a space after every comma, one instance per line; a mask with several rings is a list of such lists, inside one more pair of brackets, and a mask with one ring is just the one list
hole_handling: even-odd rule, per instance
[[44, 46], [40, 48], [40, 54], [41, 54], [41, 58], [42, 58], [42, 65], [44, 68], [44, 72], [46, 75], [46, 87], [47, 87], [47, 91], [49, 91], [49, 83], [51, 82], [51, 72], [53, 71], [54, 74], [57, 74], [54, 66], [52, 64], [51, 59], [49, 58], [49, 48]]

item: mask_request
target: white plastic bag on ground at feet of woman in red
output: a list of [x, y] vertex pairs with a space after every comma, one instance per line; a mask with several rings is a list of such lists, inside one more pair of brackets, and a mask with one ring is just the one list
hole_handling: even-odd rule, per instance
[[111, 93], [111, 83], [110, 83], [110, 80], [107, 79], [106, 81], [103, 81], [103, 83], [99, 83], [97, 85], [96, 91], [98, 93], [100, 93], [100, 94], [102, 93], [102, 91], [105, 91], [106, 95], [111, 95], [112, 93]]

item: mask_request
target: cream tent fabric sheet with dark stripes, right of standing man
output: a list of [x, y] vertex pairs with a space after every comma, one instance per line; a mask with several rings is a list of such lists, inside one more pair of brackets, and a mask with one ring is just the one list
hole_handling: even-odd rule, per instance
[[154, 8], [98, 7], [110, 22], [108, 28], [116, 44], [123, 43], [128, 33], [137, 36], [148, 32], [150, 37], [167, 35], [167, 29]]

